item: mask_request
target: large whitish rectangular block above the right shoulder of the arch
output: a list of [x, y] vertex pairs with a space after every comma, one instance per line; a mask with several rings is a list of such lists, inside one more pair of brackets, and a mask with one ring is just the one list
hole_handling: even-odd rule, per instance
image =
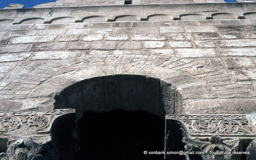
[[198, 57], [215, 57], [217, 53], [213, 49], [176, 49], [177, 57], [181, 58], [198, 58]]

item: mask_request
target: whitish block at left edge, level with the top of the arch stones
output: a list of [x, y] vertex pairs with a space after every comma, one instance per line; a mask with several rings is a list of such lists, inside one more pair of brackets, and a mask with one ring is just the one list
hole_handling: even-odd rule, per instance
[[30, 55], [31, 53], [0, 54], [0, 62], [22, 61], [29, 58]]

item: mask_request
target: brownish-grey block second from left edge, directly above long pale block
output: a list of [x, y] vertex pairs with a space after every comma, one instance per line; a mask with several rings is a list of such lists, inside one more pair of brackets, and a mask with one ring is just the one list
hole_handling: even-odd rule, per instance
[[66, 50], [67, 46], [68, 42], [35, 43], [32, 45], [30, 51]]

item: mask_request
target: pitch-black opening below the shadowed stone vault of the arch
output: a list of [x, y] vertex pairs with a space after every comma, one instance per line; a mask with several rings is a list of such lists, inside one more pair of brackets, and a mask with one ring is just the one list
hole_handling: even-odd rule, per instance
[[84, 113], [76, 160], [164, 160], [164, 119], [143, 111]]

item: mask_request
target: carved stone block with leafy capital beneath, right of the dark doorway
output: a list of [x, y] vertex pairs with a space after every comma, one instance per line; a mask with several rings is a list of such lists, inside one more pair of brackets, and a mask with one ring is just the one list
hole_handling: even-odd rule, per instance
[[170, 154], [166, 159], [241, 160], [237, 153], [256, 138], [252, 115], [167, 115], [165, 151], [183, 151], [185, 157]]

